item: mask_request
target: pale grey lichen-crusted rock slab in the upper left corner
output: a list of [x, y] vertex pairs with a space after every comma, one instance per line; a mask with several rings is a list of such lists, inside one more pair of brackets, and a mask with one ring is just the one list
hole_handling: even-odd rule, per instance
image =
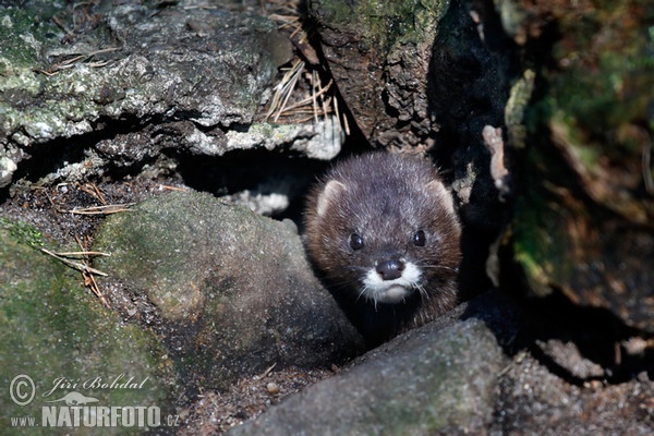
[[[45, 27], [41, 32], [53, 33], [50, 40], [44, 40], [41, 34], [35, 34], [20, 20], [29, 12], [35, 13], [3, 10], [5, 20], [14, 23], [12, 32], [33, 41], [25, 47], [27, 52], [41, 62], [50, 62], [53, 73], [47, 76], [13, 70], [13, 59], [4, 59], [13, 74], [4, 83], [3, 95], [14, 98], [3, 100], [9, 110], [2, 126], [9, 137], [26, 131], [27, 144], [89, 132], [90, 123], [97, 123], [100, 117], [158, 114], [174, 121], [180, 113], [192, 111], [194, 114], [187, 118], [197, 125], [249, 123], [258, 105], [257, 95], [275, 73], [276, 65], [263, 48], [275, 27], [262, 17], [202, 9], [184, 13], [181, 9], [167, 9], [152, 15], [145, 7], [122, 5], [106, 15], [96, 15], [101, 25], [87, 35], [90, 43], [66, 47], [59, 44], [63, 35], [52, 22], [45, 20], [40, 26]], [[204, 33], [193, 32], [191, 21], [204, 21]], [[167, 32], [160, 32], [162, 28]], [[112, 41], [112, 37], [122, 44]], [[186, 47], [183, 53], [171, 49], [180, 40]], [[64, 69], [61, 63], [66, 57], [92, 51], [102, 65], [78, 62]], [[240, 56], [233, 56], [234, 52]], [[28, 104], [37, 92], [48, 105], [38, 112], [28, 112]]]

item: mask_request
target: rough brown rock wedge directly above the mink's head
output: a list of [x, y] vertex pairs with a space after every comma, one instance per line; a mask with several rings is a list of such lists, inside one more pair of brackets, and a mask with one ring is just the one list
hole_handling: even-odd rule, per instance
[[371, 142], [415, 146], [431, 137], [431, 44], [447, 9], [448, 2], [310, 2], [329, 70]]

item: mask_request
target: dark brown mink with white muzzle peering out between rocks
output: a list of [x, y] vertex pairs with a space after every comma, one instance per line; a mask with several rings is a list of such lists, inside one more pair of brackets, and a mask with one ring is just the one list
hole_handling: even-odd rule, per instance
[[339, 162], [310, 194], [304, 223], [311, 259], [371, 346], [456, 305], [461, 226], [431, 161]]

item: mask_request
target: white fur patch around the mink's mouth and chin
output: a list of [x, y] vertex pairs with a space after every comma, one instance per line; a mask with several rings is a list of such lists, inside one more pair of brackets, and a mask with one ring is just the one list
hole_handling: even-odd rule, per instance
[[384, 280], [375, 268], [371, 268], [363, 279], [362, 295], [377, 303], [401, 303], [416, 291], [420, 277], [420, 269], [411, 262], [404, 264], [402, 275], [395, 280]]

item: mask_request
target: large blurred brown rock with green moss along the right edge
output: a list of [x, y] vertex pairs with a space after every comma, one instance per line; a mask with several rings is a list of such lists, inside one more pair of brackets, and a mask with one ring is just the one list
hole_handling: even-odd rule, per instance
[[650, 23], [634, 12], [643, 8], [500, 2], [505, 27], [525, 47], [548, 28], [561, 35], [536, 71], [548, 92], [530, 104], [511, 227], [531, 293], [560, 292], [651, 335], [654, 65]]

